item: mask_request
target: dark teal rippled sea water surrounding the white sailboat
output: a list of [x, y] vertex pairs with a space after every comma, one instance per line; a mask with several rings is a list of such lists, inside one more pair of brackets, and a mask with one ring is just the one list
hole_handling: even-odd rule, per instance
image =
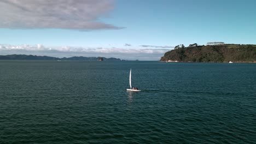
[[0, 143], [256, 142], [253, 63], [0, 61], [0, 80]]

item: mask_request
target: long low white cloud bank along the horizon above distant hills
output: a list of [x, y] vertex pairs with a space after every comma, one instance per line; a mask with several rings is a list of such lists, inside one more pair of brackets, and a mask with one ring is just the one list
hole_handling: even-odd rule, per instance
[[158, 61], [169, 49], [125, 49], [118, 47], [73, 47], [57, 46], [46, 47], [43, 45], [8, 45], [0, 44], [1, 55], [26, 54], [26, 55], [46, 55], [54, 57], [115, 57], [121, 59], [139, 59]]

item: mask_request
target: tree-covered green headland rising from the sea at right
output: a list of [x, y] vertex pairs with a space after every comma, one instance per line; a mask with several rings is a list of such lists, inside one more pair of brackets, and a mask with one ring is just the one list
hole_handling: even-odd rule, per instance
[[256, 62], [256, 45], [207, 45], [171, 50], [160, 61], [178, 62]]

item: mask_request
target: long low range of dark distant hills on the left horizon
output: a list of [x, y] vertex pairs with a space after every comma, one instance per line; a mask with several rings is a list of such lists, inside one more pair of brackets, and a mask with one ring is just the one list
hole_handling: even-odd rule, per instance
[[33, 56], [33, 55], [0, 55], [0, 60], [56, 60], [56, 61], [121, 61], [120, 58], [106, 57], [48, 57], [48, 56]]

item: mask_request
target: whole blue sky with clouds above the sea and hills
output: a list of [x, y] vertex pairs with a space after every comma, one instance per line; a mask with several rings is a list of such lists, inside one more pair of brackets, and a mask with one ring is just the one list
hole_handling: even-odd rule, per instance
[[0, 55], [158, 61], [179, 44], [256, 44], [255, 6], [251, 0], [2, 0]]

